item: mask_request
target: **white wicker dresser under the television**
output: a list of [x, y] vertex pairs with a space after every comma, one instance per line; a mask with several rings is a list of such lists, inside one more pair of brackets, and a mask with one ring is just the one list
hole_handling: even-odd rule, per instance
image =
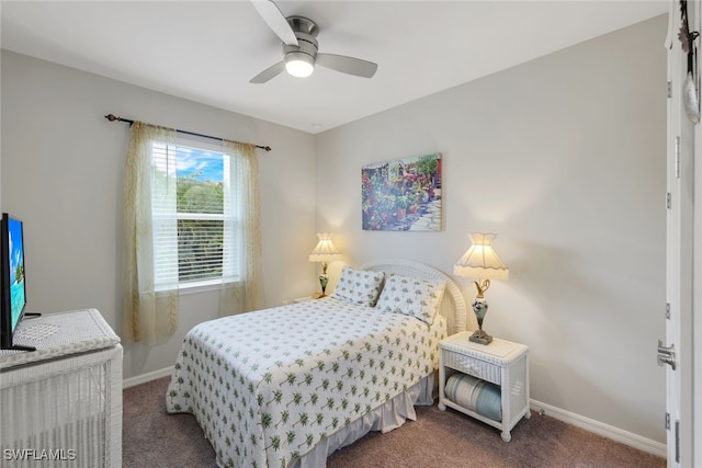
[[0, 466], [122, 467], [122, 346], [95, 309], [25, 318], [0, 351]]

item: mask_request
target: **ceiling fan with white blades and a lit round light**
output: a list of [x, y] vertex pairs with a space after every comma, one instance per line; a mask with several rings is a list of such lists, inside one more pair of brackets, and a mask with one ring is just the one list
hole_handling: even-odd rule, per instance
[[251, 78], [251, 83], [264, 83], [283, 70], [293, 77], [309, 77], [315, 65], [356, 77], [371, 78], [377, 64], [346, 55], [317, 53], [319, 28], [304, 16], [285, 18], [272, 0], [251, 0], [263, 21], [283, 42], [283, 60]]

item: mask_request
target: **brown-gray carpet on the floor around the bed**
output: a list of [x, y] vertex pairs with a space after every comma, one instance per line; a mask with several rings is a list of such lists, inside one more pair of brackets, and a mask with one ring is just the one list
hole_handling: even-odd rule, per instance
[[[215, 454], [190, 414], [166, 413], [169, 378], [124, 390], [123, 466], [215, 467]], [[533, 414], [502, 442], [499, 431], [458, 412], [418, 407], [417, 421], [371, 433], [336, 452], [329, 468], [664, 468], [666, 460], [553, 418]]]

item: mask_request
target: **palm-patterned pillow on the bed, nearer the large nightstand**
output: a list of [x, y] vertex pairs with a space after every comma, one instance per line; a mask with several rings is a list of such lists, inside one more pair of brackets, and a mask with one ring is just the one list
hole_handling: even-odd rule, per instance
[[446, 284], [440, 281], [390, 275], [377, 300], [377, 308], [384, 312], [417, 317], [432, 324], [445, 288]]

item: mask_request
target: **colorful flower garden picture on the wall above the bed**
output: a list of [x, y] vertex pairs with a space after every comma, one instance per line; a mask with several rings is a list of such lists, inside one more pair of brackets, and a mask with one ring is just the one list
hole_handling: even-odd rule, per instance
[[364, 230], [440, 231], [441, 153], [361, 168]]

